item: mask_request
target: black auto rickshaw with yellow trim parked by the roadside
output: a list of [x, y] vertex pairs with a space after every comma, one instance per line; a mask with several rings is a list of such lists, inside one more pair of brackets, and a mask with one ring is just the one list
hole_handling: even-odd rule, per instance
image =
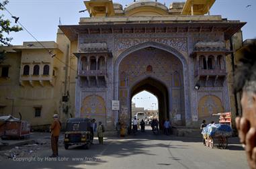
[[67, 120], [67, 130], [64, 139], [66, 150], [72, 145], [83, 145], [85, 149], [89, 149], [92, 142], [91, 119], [71, 118]]

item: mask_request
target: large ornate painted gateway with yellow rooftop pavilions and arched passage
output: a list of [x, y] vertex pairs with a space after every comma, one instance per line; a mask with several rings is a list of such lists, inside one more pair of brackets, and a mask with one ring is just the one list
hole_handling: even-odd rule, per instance
[[[225, 44], [245, 23], [204, 15], [213, 0], [197, 3], [137, 1], [122, 9], [86, 1], [91, 17], [60, 26], [78, 58], [75, 116], [114, 129], [118, 118], [130, 120], [131, 98], [144, 90], [157, 96], [160, 121], [177, 126], [230, 111]], [[120, 101], [119, 111], [112, 100]]]

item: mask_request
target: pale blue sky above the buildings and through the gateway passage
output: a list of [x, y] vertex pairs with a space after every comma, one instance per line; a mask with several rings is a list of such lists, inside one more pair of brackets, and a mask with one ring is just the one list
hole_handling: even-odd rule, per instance
[[[121, 3], [125, 7], [125, 5], [132, 3], [133, 0], [114, 0], [114, 2]], [[173, 1], [159, 0], [159, 2], [166, 3], [169, 7]], [[251, 6], [246, 7], [247, 5]], [[89, 16], [87, 12], [78, 12], [85, 9], [82, 0], [10, 0], [6, 8], [13, 15], [18, 16], [19, 22], [39, 41], [56, 40], [59, 17], [62, 25], [76, 25], [80, 17]], [[4, 12], [3, 14], [5, 18], [13, 21], [9, 13]], [[210, 14], [222, 15], [223, 18], [229, 20], [246, 21], [247, 24], [242, 28], [243, 39], [256, 38], [256, 0], [216, 0], [210, 10]], [[21, 45], [26, 41], [35, 41], [26, 31], [12, 33], [10, 36], [13, 37], [11, 42], [13, 45]], [[136, 101], [136, 106], [138, 107], [152, 109], [152, 103], [157, 103], [156, 98], [153, 99], [153, 95], [148, 95], [146, 92], [140, 93], [136, 97], [152, 98], [144, 102], [142, 100]]]

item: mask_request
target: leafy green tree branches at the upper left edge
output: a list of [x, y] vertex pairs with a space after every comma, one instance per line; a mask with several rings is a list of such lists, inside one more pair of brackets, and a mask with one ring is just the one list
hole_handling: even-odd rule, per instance
[[[5, 10], [5, 5], [9, 3], [8, 0], [4, 0], [0, 2], [0, 13]], [[4, 15], [0, 15], [0, 46], [1, 45], [11, 45], [10, 42], [13, 38], [5, 37], [4, 34], [9, 35], [10, 32], [19, 32], [22, 30], [22, 27], [18, 25], [11, 25], [11, 21], [9, 19], [4, 19]]]

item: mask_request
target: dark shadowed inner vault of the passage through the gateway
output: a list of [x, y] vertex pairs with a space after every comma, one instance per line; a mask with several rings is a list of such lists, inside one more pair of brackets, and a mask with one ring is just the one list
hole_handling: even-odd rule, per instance
[[[142, 92], [148, 91], [157, 97], [158, 100], [158, 118], [159, 118], [159, 127], [163, 129], [163, 123], [165, 119], [169, 119], [169, 95], [167, 87], [165, 84], [160, 82], [155, 78], [148, 77], [140, 82], [137, 82], [130, 89], [130, 105], [132, 106], [132, 97], [134, 95]], [[131, 107], [132, 109], [132, 107]], [[132, 113], [130, 113], [130, 119], [132, 119]]]

